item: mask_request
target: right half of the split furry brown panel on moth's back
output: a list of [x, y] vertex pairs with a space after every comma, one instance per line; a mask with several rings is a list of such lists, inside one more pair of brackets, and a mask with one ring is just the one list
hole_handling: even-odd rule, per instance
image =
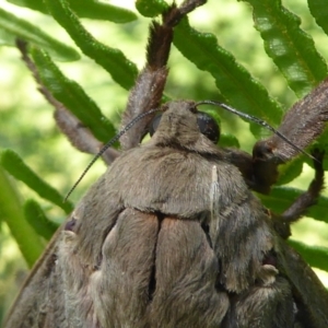
[[150, 327], [221, 327], [229, 296], [218, 286], [219, 260], [199, 221], [166, 215], [155, 257]]

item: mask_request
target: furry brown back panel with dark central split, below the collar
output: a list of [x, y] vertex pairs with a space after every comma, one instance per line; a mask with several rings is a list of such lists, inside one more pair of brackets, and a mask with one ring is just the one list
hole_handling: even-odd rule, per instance
[[[219, 327], [226, 314], [227, 295], [215, 286], [218, 259], [196, 220], [127, 208], [102, 254], [84, 303], [73, 302], [74, 315], [87, 323], [83, 327]], [[74, 268], [65, 263], [70, 277]], [[68, 293], [69, 286], [75, 290], [73, 282], [65, 283]]]

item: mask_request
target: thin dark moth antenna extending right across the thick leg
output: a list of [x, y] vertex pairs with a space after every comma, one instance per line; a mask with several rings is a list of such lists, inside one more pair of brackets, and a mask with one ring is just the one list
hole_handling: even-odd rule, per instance
[[196, 103], [196, 106], [198, 105], [203, 105], [203, 104], [208, 104], [208, 105], [214, 105], [214, 106], [219, 106], [223, 109], [226, 109], [233, 114], [236, 114], [239, 117], [246, 118], [247, 120], [254, 121], [262, 127], [265, 127], [266, 129], [272, 131], [274, 134], [277, 134], [278, 137], [280, 137], [283, 141], [285, 141], [286, 143], [289, 143], [291, 147], [293, 147], [294, 149], [296, 149], [298, 152], [305, 154], [306, 156], [311, 157], [314, 161], [317, 161], [313, 155], [311, 155], [309, 153], [307, 153], [305, 150], [303, 150], [302, 148], [297, 147], [296, 144], [294, 144], [290, 139], [288, 139], [284, 134], [282, 134], [281, 132], [279, 132], [277, 129], [274, 129], [272, 126], [270, 126], [267, 121], [265, 121], [263, 119], [260, 119], [256, 116], [239, 112], [226, 104], [223, 103], [219, 103], [219, 102], [214, 102], [214, 101], [201, 101]]

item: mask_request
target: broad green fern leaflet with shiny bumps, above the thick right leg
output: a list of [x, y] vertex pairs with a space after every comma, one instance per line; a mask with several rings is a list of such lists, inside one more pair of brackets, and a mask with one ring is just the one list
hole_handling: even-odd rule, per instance
[[327, 65], [313, 38], [300, 28], [300, 17], [282, 7], [280, 0], [245, 1], [253, 5], [255, 27], [263, 38], [267, 54], [295, 94], [305, 96], [327, 77]]

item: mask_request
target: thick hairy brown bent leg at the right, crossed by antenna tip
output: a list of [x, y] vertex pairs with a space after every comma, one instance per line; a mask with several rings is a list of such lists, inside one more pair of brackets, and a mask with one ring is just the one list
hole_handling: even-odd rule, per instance
[[[278, 131], [298, 149], [308, 147], [328, 120], [328, 79], [286, 112]], [[300, 154], [278, 134], [258, 141], [253, 149], [253, 189], [269, 194], [278, 178], [278, 166]]]

